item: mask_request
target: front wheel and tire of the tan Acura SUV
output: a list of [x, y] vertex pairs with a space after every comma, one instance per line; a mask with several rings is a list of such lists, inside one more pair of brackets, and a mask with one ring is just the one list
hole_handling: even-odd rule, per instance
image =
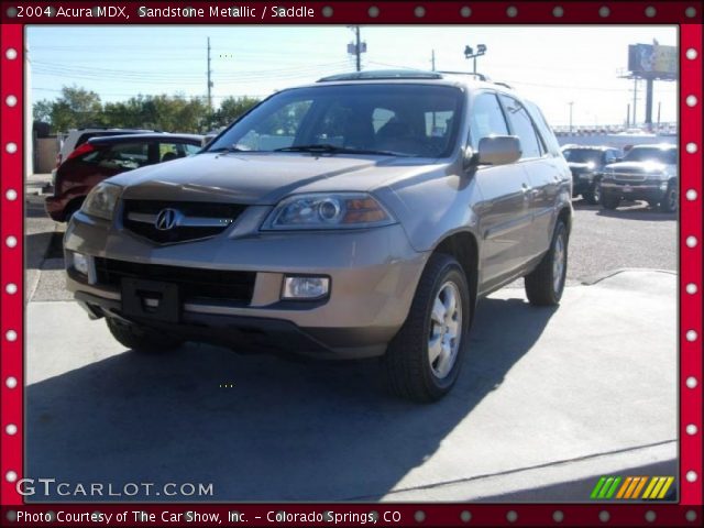
[[[451, 306], [455, 311], [449, 318], [443, 317]], [[462, 267], [449, 255], [433, 254], [420, 277], [406, 322], [384, 356], [392, 393], [429, 403], [450, 392], [464, 358], [470, 309]], [[431, 343], [437, 343], [437, 348]], [[439, 352], [435, 360], [431, 360], [431, 348]]]

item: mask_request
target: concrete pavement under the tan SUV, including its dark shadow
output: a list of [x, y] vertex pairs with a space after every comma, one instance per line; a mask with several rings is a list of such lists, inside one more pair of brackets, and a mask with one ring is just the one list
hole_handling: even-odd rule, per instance
[[493, 295], [430, 406], [388, 397], [373, 361], [141, 355], [72, 301], [26, 321], [28, 476], [213, 484], [191, 501], [581, 502], [602, 474], [678, 474], [671, 272], [571, 286], [559, 309]]

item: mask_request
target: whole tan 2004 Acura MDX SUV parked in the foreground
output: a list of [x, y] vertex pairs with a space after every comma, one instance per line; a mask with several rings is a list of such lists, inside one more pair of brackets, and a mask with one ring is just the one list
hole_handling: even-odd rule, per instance
[[571, 182], [538, 108], [503, 85], [328, 77], [100, 184], [66, 232], [68, 286], [131, 349], [383, 356], [395, 393], [435, 400], [479, 298], [526, 277], [530, 302], [559, 302]]

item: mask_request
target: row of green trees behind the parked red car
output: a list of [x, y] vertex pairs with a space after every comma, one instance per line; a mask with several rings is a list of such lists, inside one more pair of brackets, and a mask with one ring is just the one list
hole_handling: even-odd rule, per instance
[[208, 132], [223, 127], [258, 103], [251, 97], [228, 97], [210, 111], [204, 98], [136, 96], [125, 101], [101, 103], [94, 91], [64, 87], [54, 101], [34, 103], [34, 119], [50, 122], [55, 133], [85, 127], [154, 129], [164, 132]]

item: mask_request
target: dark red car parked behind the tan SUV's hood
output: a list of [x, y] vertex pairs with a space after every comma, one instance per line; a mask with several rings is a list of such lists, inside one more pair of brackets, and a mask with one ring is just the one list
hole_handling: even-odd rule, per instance
[[57, 222], [67, 222], [90, 189], [103, 179], [195, 154], [201, 148], [202, 138], [164, 133], [92, 138], [72, 152], [56, 170], [54, 195], [44, 202], [46, 212]]

